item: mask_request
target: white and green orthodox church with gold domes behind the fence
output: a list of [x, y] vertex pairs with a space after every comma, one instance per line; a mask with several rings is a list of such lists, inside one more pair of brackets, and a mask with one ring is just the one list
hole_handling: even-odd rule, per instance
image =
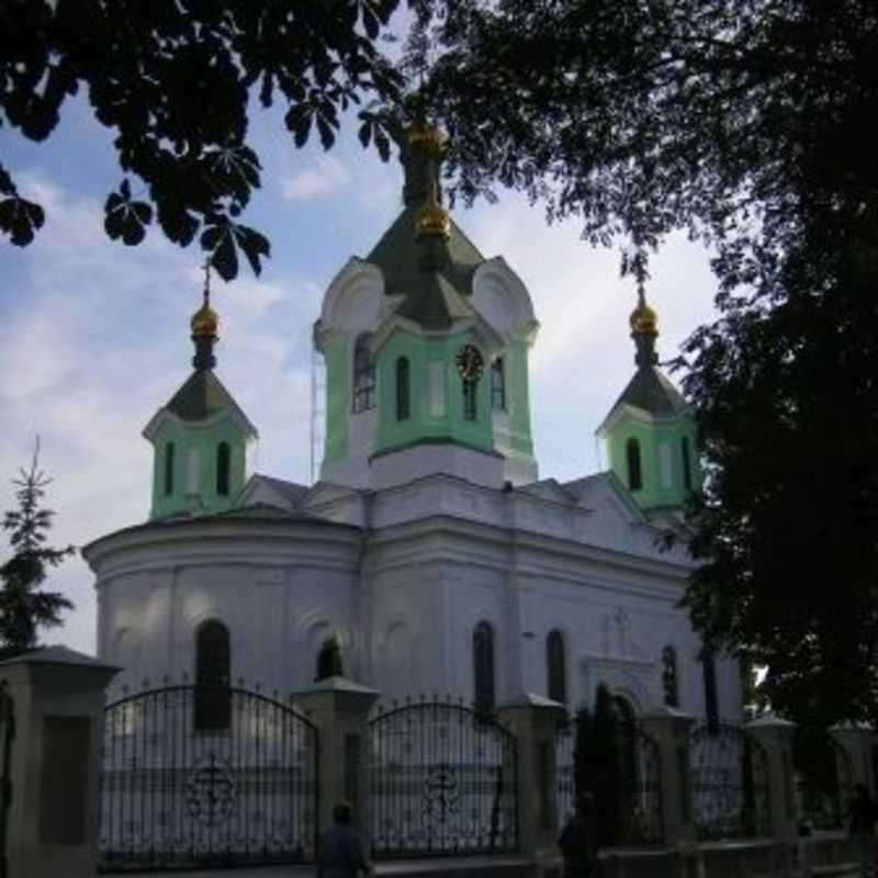
[[285, 697], [312, 685], [335, 638], [346, 675], [387, 700], [489, 708], [527, 691], [573, 708], [603, 682], [635, 713], [739, 720], [736, 664], [703, 660], [677, 606], [685, 540], [661, 545], [685, 533], [700, 472], [654, 311], [641, 292], [633, 375], [597, 429], [609, 469], [541, 480], [533, 303], [442, 207], [444, 149], [434, 126], [406, 130], [402, 212], [326, 290], [316, 484], [254, 472], [258, 431], [215, 372], [205, 288], [193, 370], [144, 430], [149, 520], [83, 550], [99, 655], [131, 688], [258, 680]]

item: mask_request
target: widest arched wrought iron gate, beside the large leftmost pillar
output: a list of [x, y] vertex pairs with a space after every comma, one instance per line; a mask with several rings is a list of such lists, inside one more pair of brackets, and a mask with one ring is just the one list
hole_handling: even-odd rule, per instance
[[172, 686], [104, 713], [103, 871], [312, 859], [317, 731], [259, 693]]

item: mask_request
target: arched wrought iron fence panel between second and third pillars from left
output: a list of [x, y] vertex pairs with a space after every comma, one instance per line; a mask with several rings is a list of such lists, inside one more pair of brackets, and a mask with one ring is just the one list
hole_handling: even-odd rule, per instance
[[518, 848], [515, 736], [462, 703], [409, 702], [369, 723], [375, 857]]

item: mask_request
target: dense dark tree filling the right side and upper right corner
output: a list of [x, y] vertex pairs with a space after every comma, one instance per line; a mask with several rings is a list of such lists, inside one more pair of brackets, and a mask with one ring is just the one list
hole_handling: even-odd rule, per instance
[[[419, 0], [408, 44], [464, 199], [496, 182], [624, 246], [713, 247], [689, 339], [708, 481], [686, 604], [775, 708], [878, 720], [878, 8]], [[525, 60], [526, 59], [526, 60]]]

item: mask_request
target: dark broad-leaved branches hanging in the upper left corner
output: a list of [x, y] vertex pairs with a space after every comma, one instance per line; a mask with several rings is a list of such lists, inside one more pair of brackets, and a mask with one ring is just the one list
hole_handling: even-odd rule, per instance
[[[398, 0], [10, 0], [0, 5], [0, 126], [50, 137], [80, 88], [114, 133], [124, 173], [105, 203], [111, 238], [139, 244], [154, 218], [172, 241], [200, 235], [229, 280], [257, 273], [269, 241], [239, 222], [260, 184], [248, 113], [280, 100], [301, 147], [329, 148], [339, 114], [392, 100], [399, 77], [376, 44]], [[360, 110], [360, 139], [382, 156], [382, 121]], [[44, 223], [0, 164], [0, 234], [25, 246]]]

